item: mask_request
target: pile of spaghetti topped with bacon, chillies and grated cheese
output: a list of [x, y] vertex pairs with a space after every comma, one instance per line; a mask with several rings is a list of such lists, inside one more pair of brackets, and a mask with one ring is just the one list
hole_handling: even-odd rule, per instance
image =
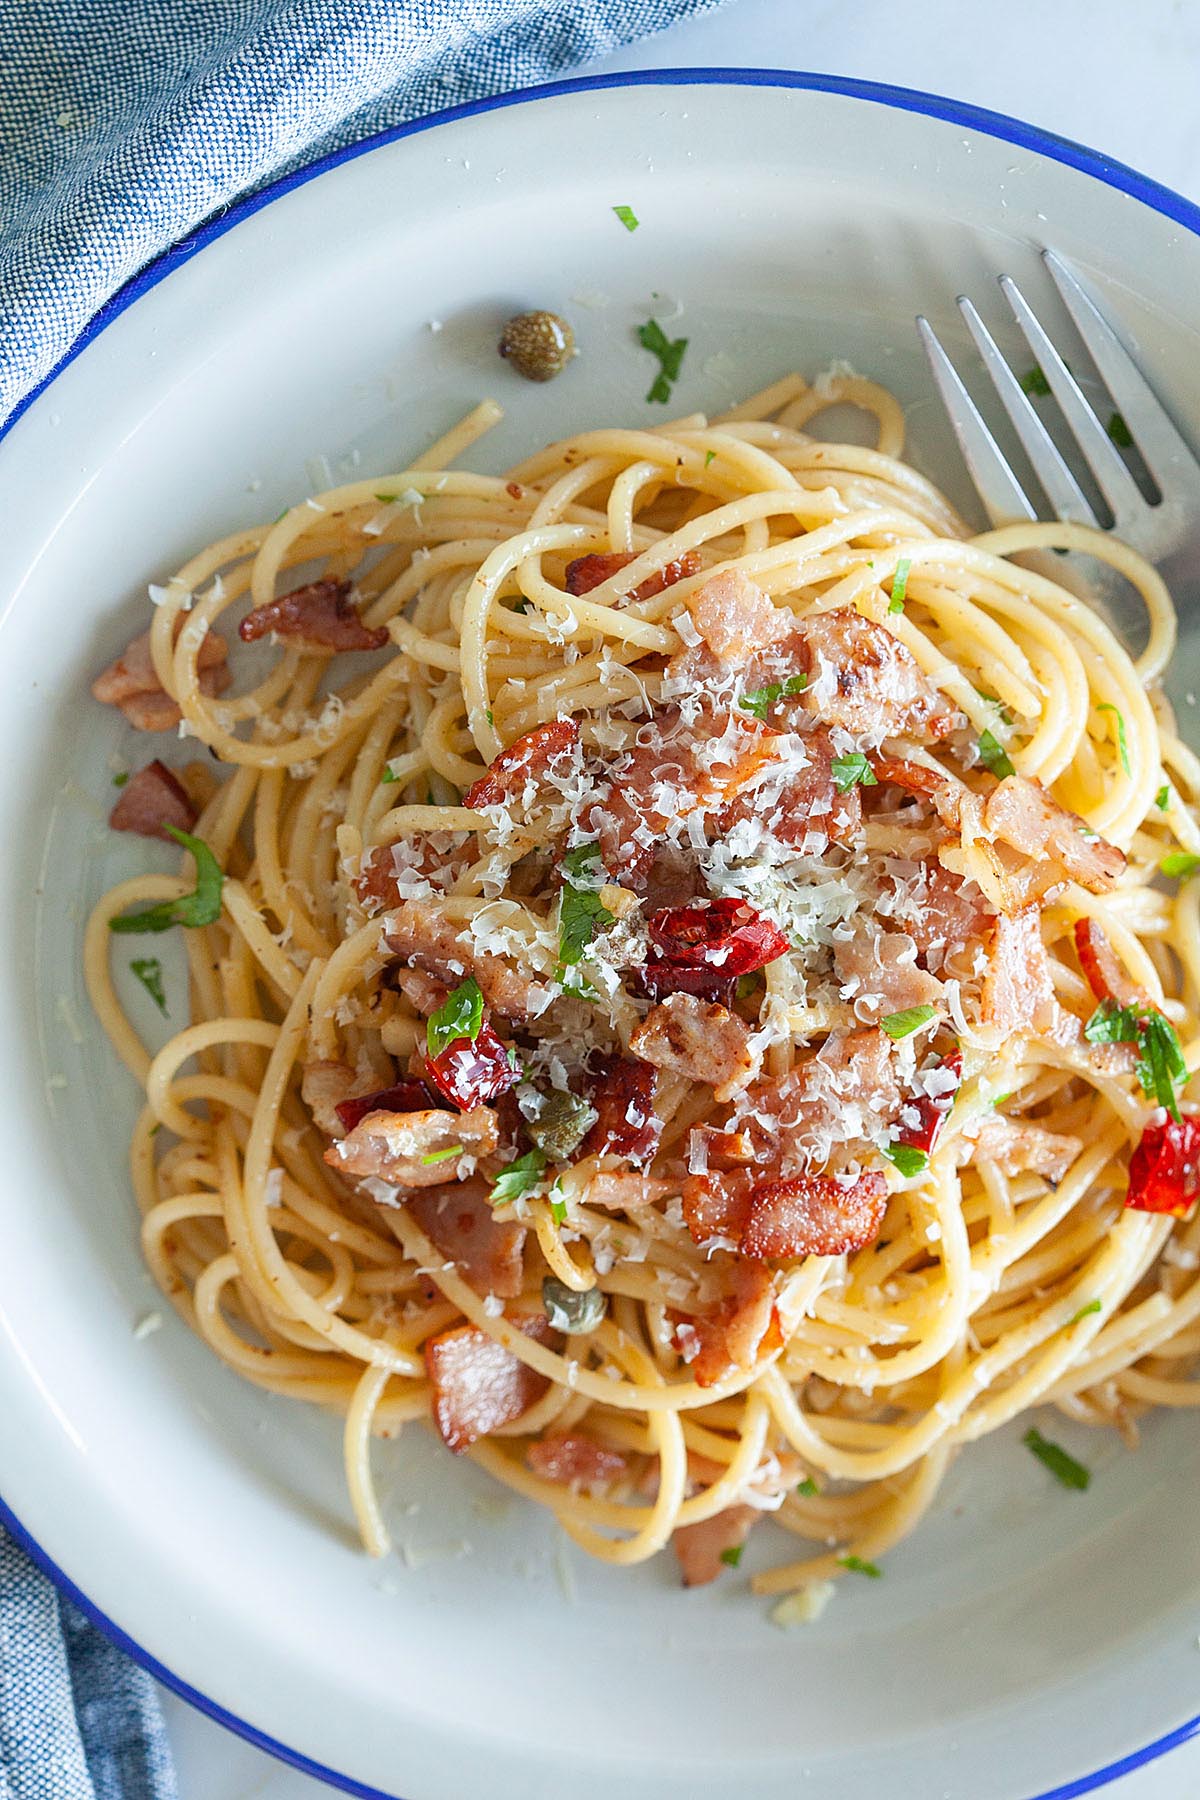
[[[432, 1422], [610, 1562], [707, 1580], [770, 1514], [811, 1616], [961, 1444], [1195, 1404], [1171, 603], [1079, 527], [972, 538], [858, 378], [452, 470], [495, 416], [203, 551], [95, 682], [210, 751], [122, 787], [184, 866], [86, 936], [146, 1256], [345, 1415], [369, 1550], [371, 1438]], [[1135, 583], [1137, 661], [1051, 545]], [[151, 1058], [112, 959], [167, 929]]]

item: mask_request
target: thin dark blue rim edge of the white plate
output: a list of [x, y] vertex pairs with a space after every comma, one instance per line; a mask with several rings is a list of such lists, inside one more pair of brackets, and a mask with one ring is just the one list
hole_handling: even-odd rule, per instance
[[[453, 124], [459, 119], [471, 119], [479, 113], [500, 112], [506, 106], [524, 106], [531, 101], [558, 99], [563, 94], [587, 94], [601, 88], [678, 88], [705, 85], [741, 88], [802, 88], [815, 94], [838, 94], [846, 99], [871, 101], [876, 106], [892, 106], [900, 112], [923, 113], [930, 119], [941, 119], [946, 124], [964, 126], [970, 131], [981, 131], [986, 137], [997, 137], [1007, 144], [1018, 144], [1022, 149], [1031, 149], [1040, 157], [1049, 157], [1054, 162], [1078, 169], [1081, 175], [1090, 175], [1096, 180], [1105, 182], [1106, 187], [1115, 187], [1132, 200], [1139, 200], [1155, 212], [1175, 220], [1175, 223], [1186, 227], [1186, 230], [1200, 238], [1200, 207], [1191, 200], [1186, 200], [1182, 194], [1177, 194], [1175, 189], [1164, 187], [1162, 182], [1155, 182], [1148, 175], [1141, 175], [1128, 164], [1103, 155], [1103, 151], [1088, 149], [1085, 144], [1076, 144], [1072, 139], [1058, 137], [1054, 131], [1025, 124], [1022, 119], [1011, 119], [1007, 113], [990, 112], [986, 106], [972, 106], [964, 101], [950, 101], [937, 94], [925, 94], [921, 88], [896, 88], [883, 81], [855, 81], [847, 76], [820, 76], [788, 68], [646, 68], [633, 70], [630, 74], [576, 76], [567, 81], [545, 83], [543, 86], [518, 88], [511, 94], [497, 94], [486, 99], [466, 101], [462, 106], [452, 106], [446, 112], [428, 113], [426, 117], [414, 119], [408, 124], [392, 126], [374, 137], [362, 139], [358, 144], [349, 144], [344, 149], [331, 151], [327, 157], [318, 157], [315, 162], [308, 162], [300, 169], [293, 169], [290, 175], [281, 175], [279, 180], [270, 182], [257, 193], [239, 200], [218, 218], [198, 225], [185, 238], [180, 238], [176, 245], [171, 245], [171, 248], [164, 250], [151, 263], [148, 263], [146, 268], [139, 270], [137, 275], [126, 281], [126, 284], [119, 288], [117, 293], [104, 302], [104, 306], [101, 306], [95, 317], [85, 326], [50, 373], [34, 389], [31, 389], [31, 392], [16, 403], [7, 419], [0, 423], [0, 441], [13, 430], [16, 421], [34, 403], [34, 400], [38, 400], [38, 396], [58, 380], [63, 369], [72, 364], [76, 356], [86, 349], [88, 344], [101, 335], [101, 331], [104, 331], [106, 326], [119, 319], [128, 306], [131, 306], [144, 293], [149, 293], [151, 288], [157, 288], [160, 281], [184, 263], [191, 261], [191, 257], [196, 256], [198, 250], [203, 250], [205, 245], [212, 243], [216, 238], [223, 238], [225, 232], [241, 225], [243, 220], [252, 218], [263, 207], [270, 205], [273, 200], [281, 200], [295, 187], [304, 187], [327, 169], [336, 169], [340, 164], [353, 162], [356, 157], [365, 157], [369, 151], [381, 149], [385, 144], [396, 144], [405, 137], [416, 137], [419, 131], [432, 131], [437, 126]], [[182, 1676], [176, 1676], [171, 1669], [164, 1667], [164, 1663], [160, 1663], [140, 1643], [135, 1643], [133, 1638], [130, 1638], [121, 1625], [115, 1624], [115, 1620], [112, 1620], [106, 1613], [101, 1613], [101, 1609], [88, 1600], [74, 1580], [70, 1580], [70, 1577], [50, 1559], [50, 1555], [47, 1555], [41, 1544], [29, 1534], [2, 1498], [0, 1523], [16, 1539], [22, 1550], [25, 1550], [25, 1553], [50, 1577], [50, 1580], [65, 1595], [68, 1595], [70, 1600], [74, 1600], [79, 1611], [85, 1613], [94, 1625], [112, 1638], [112, 1642], [131, 1656], [133, 1661], [140, 1663], [142, 1669], [155, 1676], [157, 1681], [196, 1706], [198, 1712], [207, 1714], [209, 1719], [216, 1719], [218, 1724], [236, 1732], [237, 1737], [245, 1737], [257, 1750], [268, 1751], [272, 1757], [291, 1764], [291, 1768], [300, 1769], [304, 1775], [311, 1775], [317, 1780], [344, 1789], [345, 1793], [358, 1795], [362, 1800], [399, 1800], [398, 1795], [389, 1795], [380, 1787], [369, 1787], [363, 1782], [356, 1782], [351, 1775], [342, 1775], [338, 1769], [327, 1769], [324, 1764], [313, 1762], [311, 1757], [302, 1755], [299, 1750], [291, 1750], [288, 1744], [281, 1744], [277, 1739], [268, 1737], [246, 1719], [239, 1719], [236, 1714], [227, 1712], [225, 1706], [209, 1699], [207, 1694], [200, 1694], [187, 1681], [184, 1681]], [[1173, 1732], [1168, 1732], [1164, 1737], [1155, 1739], [1151, 1744], [1146, 1744], [1142, 1750], [1133, 1750], [1128, 1757], [1121, 1757], [1117, 1762], [1108, 1762], [1092, 1775], [1081, 1775], [1065, 1786], [1049, 1787], [1045, 1793], [1031, 1796], [1031, 1800], [1078, 1800], [1079, 1795], [1094, 1793], [1106, 1782], [1114, 1782], [1121, 1775], [1130, 1775], [1133, 1769], [1144, 1768], [1157, 1757], [1166, 1755], [1168, 1750], [1175, 1750], [1178, 1744], [1187, 1742], [1187, 1739], [1195, 1737], [1198, 1732], [1200, 1714], [1196, 1714], [1195, 1719], [1187, 1719]]]

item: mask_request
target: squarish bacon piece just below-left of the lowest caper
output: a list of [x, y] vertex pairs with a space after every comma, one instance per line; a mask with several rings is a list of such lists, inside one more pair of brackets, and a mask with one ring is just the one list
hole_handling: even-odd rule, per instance
[[[552, 1341], [551, 1323], [540, 1314], [513, 1318], [509, 1325], [536, 1343]], [[434, 1390], [434, 1424], [452, 1451], [466, 1451], [498, 1426], [511, 1426], [551, 1386], [475, 1325], [455, 1325], [430, 1337], [425, 1368]]]

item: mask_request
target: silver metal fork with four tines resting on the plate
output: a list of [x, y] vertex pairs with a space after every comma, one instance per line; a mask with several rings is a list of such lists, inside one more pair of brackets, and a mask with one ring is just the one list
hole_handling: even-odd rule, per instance
[[[1103, 508], [1096, 508], [1079, 486], [988, 326], [972, 301], [961, 295], [959, 311], [1045, 500], [1049, 500], [1049, 513], [1076, 524], [1112, 529], [1159, 565], [1177, 556], [1187, 556], [1193, 565], [1189, 574], [1195, 574], [1195, 558], [1200, 553], [1200, 463], [1076, 275], [1052, 250], [1043, 250], [1042, 261], [1108, 389], [1115, 418], [1123, 419], [1128, 428], [1132, 443], [1126, 448], [1137, 452], [1155, 488], [1150, 495], [1142, 493], [1132, 463], [1121, 455], [1114, 441], [1114, 432], [1123, 443], [1126, 434], [1119, 432], [1115, 418], [1110, 418], [1108, 423], [1101, 421], [1029, 301], [1011, 275], [1000, 275], [1000, 290], [1103, 500]], [[1022, 488], [928, 319], [918, 317], [916, 324], [937, 392], [991, 524], [1002, 526], [1047, 517], [1045, 509], [1040, 513]], [[1105, 508], [1108, 517], [1105, 517]]]

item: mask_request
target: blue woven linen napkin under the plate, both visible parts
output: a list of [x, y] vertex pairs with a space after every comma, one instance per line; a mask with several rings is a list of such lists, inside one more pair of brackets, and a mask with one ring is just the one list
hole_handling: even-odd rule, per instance
[[[720, 4], [0, 0], [0, 425], [241, 194]], [[0, 1800], [173, 1796], [151, 1678], [0, 1530]]]

